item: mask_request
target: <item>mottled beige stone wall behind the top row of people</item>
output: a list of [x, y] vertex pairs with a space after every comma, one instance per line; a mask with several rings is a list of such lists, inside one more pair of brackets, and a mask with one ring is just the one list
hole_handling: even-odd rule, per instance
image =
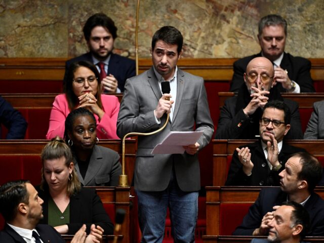
[[[82, 27], [104, 12], [118, 27], [115, 52], [135, 56], [136, 0], [0, 0], [0, 57], [74, 57], [87, 52]], [[184, 36], [184, 57], [244, 57], [260, 51], [257, 25], [267, 14], [288, 21], [286, 51], [324, 58], [323, 0], [142, 0], [139, 57], [152, 34], [173, 25]]]

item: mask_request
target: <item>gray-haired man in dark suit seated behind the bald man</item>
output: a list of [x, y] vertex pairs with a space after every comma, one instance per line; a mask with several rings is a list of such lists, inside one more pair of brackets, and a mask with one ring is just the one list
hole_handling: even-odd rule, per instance
[[274, 14], [263, 17], [259, 22], [258, 33], [261, 52], [234, 62], [230, 91], [239, 91], [244, 83], [243, 73], [253, 58], [266, 57], [274, 65], [274, 82], [279, 92], [315, 92], [310, 76], [310, 61], [286, 53], [286, 38], [287, 21], [284, 18]]

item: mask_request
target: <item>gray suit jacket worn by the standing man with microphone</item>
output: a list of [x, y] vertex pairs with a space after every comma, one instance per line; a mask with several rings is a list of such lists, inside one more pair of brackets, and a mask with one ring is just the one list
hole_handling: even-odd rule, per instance
[[[200, 189], [198, 155], [151, 154], [170, 131], [204, 131], [198, 140], [199, 149], [205, 147], [214, 132], [210, 117], [204, 79], [184, 72], [178, 68], [177, 99], [172, 123], [154, 135], [139, 136], [134, 171], [135, 188], [142, 191], [162, 191], [167, 188], [172, 167], [178, 185], [183, 191]], [[153, 67], [144, 73], [129, 78], [125, 85], [117, 118], [117, 135], [123, 138], [130, 132], [147, 133], [163, 126], [167, 115], [161, 117], [158, 125], [153, 110], [161, 98], [161, 90]]]

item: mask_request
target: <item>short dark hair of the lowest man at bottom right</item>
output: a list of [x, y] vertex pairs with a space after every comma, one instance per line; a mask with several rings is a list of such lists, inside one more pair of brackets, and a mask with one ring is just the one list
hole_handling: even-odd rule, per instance
[[296, 203], [295, 201], [285, 201], [282, 205], [291, 206], [294, 208], [292, 211], [292, 216], [290, 220], [292, 221], [291, 227], [294, 227], [297, 224], [301, 224], [303, 226], [302, 231], [299, 236], [300, 239], [303, 239], [310, 229], [310, 218], [307, 210], [301, 205]]

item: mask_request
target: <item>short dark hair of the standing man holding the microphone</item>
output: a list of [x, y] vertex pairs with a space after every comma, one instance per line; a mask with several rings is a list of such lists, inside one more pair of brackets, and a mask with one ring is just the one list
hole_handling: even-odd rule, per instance
[[178, 55], [182, 50], [183, 37], [181, 32], [173, 26], [163, 26], [152, 37], [152, 51], [157, 41], [164, 41], [170, 45], [177, 45]]

